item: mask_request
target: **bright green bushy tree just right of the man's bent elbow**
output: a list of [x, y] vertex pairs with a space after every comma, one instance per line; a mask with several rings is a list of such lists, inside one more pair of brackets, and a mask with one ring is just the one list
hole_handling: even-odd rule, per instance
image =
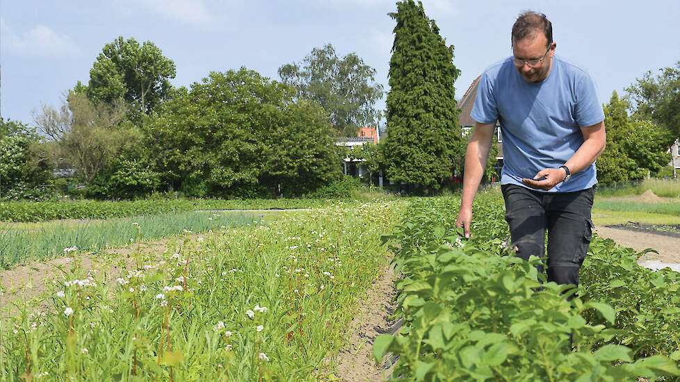
[[604, 184], [645, 178], [670, 161], [665, 151], [672, 135], [653, 122], [629, 119], [628, 106], [616, 92], [604, 106], [607, 147], [597, 159], [597, 179]]

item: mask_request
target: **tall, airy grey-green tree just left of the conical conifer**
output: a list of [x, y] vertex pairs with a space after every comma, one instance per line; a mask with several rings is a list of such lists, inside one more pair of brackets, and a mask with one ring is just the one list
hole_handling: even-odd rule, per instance
[[382, 85], [375, 83], [375, 69], [355, 53], [339, 58], [327, 44], [312, 49], [302, 63], [283, 65], [279, 76], [298, 91], [298, 99], [318, 102], [341, 136], [355, 137], [380, 118], [375, 101], [382, 98]]

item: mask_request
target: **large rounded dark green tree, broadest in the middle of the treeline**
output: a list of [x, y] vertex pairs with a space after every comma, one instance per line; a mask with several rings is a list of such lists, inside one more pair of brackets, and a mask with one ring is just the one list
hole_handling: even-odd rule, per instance
[[188, 195], [300, 194], [340, 174], [323, 110], [257, 72], [211, 72], [166, 111], [148, 126], [156, 171]]

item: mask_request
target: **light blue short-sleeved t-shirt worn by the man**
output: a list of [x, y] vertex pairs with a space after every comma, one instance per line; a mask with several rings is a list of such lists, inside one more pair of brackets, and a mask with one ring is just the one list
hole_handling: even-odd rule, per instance
[[[583, 144], [581, 127], [601, 122], [604, 112], [583, 69], [554, 57], [548, 77], [528, 83], [511, 57], [485, 70], [471, 117], [482, 124], [498, 119], [503, 138], [501, 184], [524, 186], [522, 178], [564, 165]], [[585, 190], [595, 183], [593, 163], [549, 192]]]

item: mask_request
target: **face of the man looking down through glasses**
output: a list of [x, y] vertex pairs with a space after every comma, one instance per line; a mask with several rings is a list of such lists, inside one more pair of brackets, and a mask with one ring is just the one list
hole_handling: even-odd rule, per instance
[[[548, 77], [553, 65], [553, 55], [556, 44], [553, 42], [548, 48], [548, 40], [543, 33], [535, 33], [512, 43], [512, 55], [515, 56], [515, 67], [524, 81], [538, 83]], [[547, 52], [546, 52], [547, 51]], [[517, 61], [521, 60], [521, 65]], [[530, 65], [525, 61], [538, 61]]]

